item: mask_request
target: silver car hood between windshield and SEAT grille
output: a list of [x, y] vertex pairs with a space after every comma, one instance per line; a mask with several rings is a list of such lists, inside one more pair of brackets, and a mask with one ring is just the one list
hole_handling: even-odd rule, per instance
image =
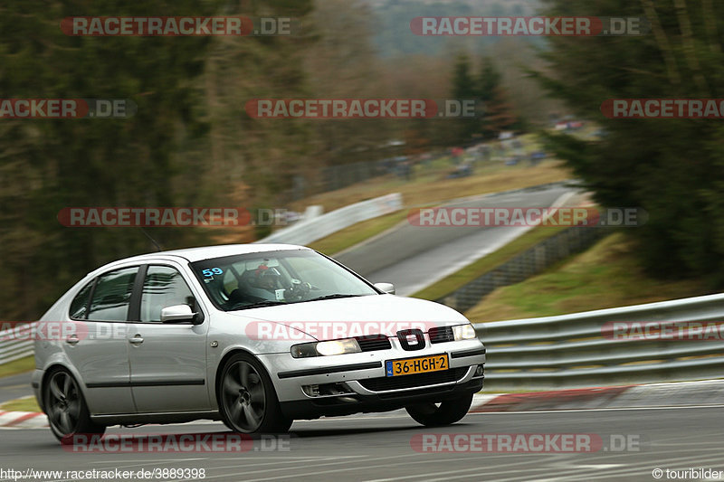
[[229, 314], [290, 326], [318, 340], [377, 334], [395, 336], [401, 329], [418, 328], [426, 332], [433, 326], [468, 322], [450, 307], [394, 295], [325, 299]]

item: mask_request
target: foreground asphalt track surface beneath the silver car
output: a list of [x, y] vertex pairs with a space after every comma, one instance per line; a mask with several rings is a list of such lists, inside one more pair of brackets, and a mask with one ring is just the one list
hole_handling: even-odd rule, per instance
[[[724, 470], [724, 406], [682, 409], [475, 413], [426, 429], [404, 413], [296, 421], [284, 450], [261, 440], [244, 453], [69, 453], [47, 430], [0, 430], [0, 468], [138, 470], [205, 468], [205, 480], [656, 480], [655, 468]], [[110, 429], [110, 433], [208, 433], [221, 423]], [[419, 452], [424, 434], [591, 434], [604, 446], [573, 453]], [[635, 440], [623, 451], [609, 440]], [[441, 438], [442, 440], [442, 438]], [[532, 445], [532, 444], [531, 444]], [[419, 447], [419, 446], [418, 446]], [[459, 445], [464, 448], [464, 446]], [[484, 447], [484, 445], [483, 445]], [[454, 449], [454, 447], [453, 447]], [[59, 477], [57, 480], [62, 480]], [[687, 477], [685, 480], [693, 478]], [[713, 478], [719, 480], [719, 478]], [[7, 480], [6, 478], [4, 480]], [[136, 480], [136, 479], [134, 479]], [[158, 478], [156, 480], [166, 480]], [[188, 479], [193, 480], [193, 479]], [[665, 474], [662, 480], [666, 480]]]

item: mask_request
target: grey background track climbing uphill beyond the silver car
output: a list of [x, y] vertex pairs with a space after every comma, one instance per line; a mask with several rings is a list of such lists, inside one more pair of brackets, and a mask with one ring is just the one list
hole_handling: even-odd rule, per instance
[[[575, 191], [573, 187], [558, 184], [474, 196], [446, 205], [542, 208]], [[372, 282], [393, 283], [398, 295], [407, 296], [498, 250], [528, 229], [520, 226], [430, 227], [403, 222], [372, 240], [339, 253], [335, 259]]]

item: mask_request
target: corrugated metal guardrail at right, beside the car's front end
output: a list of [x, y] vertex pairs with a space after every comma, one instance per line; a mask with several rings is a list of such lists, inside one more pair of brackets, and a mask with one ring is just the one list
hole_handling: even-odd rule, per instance
[[479, 323], [475, 329], [488, 353], [486, 387], [510, 391], [722, 378], [722, 331], [713, 340], [617, 339], [606, 325], [719, 320], [724, 294]]

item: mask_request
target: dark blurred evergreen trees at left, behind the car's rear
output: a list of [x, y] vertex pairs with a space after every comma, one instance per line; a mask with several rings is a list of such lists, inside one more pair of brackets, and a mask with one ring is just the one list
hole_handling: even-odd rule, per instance
[[[138, 228], [66, 228], [65, 207], [205, 203], [202, 170], [177, 156], [204, 136], [194, 80], [208, 38], [71, 37], [71, 15], [214, 14], [220, 2], [119, 0], [0, 6], [0, 90], [12, 98], [131, 99], [119, 119], [2, 119], [0, 122], [0, 306], [5, 319], [36, 319], [100, 264], [154, 250]], [[190, 188], [189, 188], [190, 186]], [[188, 229], [153, 230], [164, 247], [199, 243]]]

